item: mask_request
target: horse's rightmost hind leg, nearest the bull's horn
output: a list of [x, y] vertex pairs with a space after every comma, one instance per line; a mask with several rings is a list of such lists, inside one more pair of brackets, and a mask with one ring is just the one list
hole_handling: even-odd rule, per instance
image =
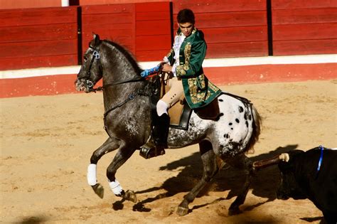
[[235, 201], [233, 201], [233, 203], [230, 205], [228, 211], [229, 215], [233, 215], [240, 213], [239, 206], [245, 202], [254, 169], [252, 167], [252, 161], [247, 156], [245, 156], [245, 154], [237, 155], [234, 159], [228, 160], [228, 164], [237, 169], [243, 169], [246, 175], [245, 183], [243, 184], [240, 193], [237, 195], [237, 198], [235, 198]]

